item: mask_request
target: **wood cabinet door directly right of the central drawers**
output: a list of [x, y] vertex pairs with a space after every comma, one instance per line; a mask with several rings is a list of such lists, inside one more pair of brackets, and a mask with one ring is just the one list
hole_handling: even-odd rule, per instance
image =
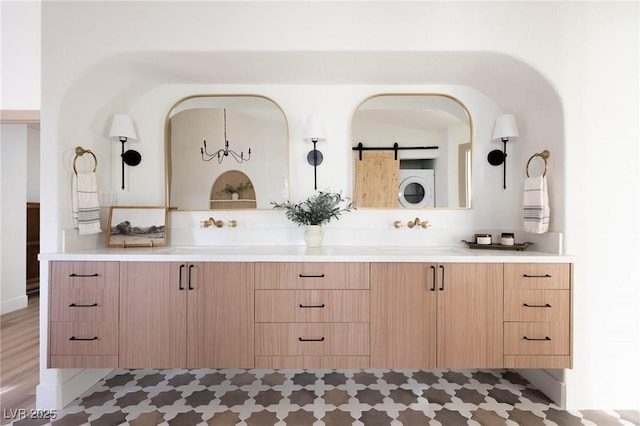
[[435, 269], [371, 264], [371, 368], [436, 367]]

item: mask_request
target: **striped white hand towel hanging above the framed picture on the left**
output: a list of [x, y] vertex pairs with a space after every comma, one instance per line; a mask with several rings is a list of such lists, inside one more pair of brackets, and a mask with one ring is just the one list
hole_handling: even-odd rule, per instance
[[73, 227], [80, 235], [97, 234], [100, 229], [100, 202], [95, 173], [77, 173], [71, 182]]

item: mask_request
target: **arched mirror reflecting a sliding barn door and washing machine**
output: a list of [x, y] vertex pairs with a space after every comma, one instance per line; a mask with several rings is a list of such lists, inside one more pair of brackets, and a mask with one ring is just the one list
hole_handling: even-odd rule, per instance
[[[353, 151], [357, 207], [407, 208], [406, 200], [401, 202], [400, 189], [416, 187], [407, 185], [407, 179], [426, 179], [426, 185], [432, 185], [425, 195], [433, 197], [433, 202], [416, 203], [415, 208], [471, 207], [472, 124], [467, 108], [458, 99], [444, 94], [375, 95], [358, 106], [351, 131], [352, 147], [362, 143], [376, 149], [364, 151], [370, 155], [369, 162], [366, 158], [361, 161], [359, 152]], [[397, 161], [391, 161], [393, 150], [377, 150], [391, 148], [394, 143], [400, 148], [431, 149], [400, 149]], [[425, 169], [433, 172], [422, 172]], [[384, 191], [388, 193], [381, 195]]]

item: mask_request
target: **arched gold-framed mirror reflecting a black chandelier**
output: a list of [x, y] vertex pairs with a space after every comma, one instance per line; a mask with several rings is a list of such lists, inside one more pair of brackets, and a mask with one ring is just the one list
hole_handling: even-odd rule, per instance
[[[203, 141], [215, 152], [225, 146], [224, 113], [229, 148], [249, 161], [231, 155], [204, 161]], [[212, 184], [223, 173], [237, 170], [253, 184], [258, 209], [289, 198], [289, 135], [282, 109], [259, 95], [196, 95], [177, 102], [167, 114], [165, 153], [168, 205], [179, 210], [211, 208]]]

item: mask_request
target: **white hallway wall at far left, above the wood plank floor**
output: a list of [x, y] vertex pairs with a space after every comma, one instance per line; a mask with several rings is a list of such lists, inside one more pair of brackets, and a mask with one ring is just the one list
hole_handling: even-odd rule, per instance
[[0, 314], [27, 306], [27, 133], [0, 124]]

